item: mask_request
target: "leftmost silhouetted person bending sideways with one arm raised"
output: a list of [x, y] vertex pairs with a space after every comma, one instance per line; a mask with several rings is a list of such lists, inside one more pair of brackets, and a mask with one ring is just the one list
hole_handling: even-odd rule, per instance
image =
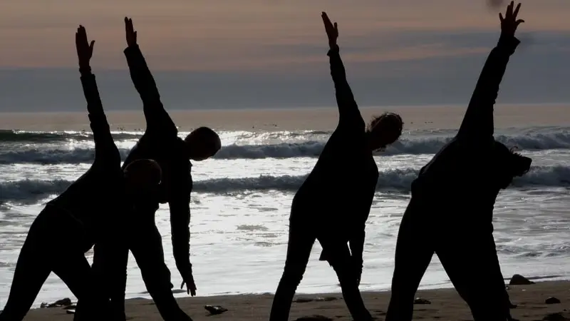
[[[94, 243], [114, 242], [118, 238], [115, 224], [120, 218], [108, 215], [110, 207], [123, 208], [125, 195], [135, 196], [134, 190], [125, 190], [125, 177], [120, 167], [120, 155], [111, 136], [109, 124], [101, 103], [95, 76], [89, 66], [93, 44], [87, 41], [83, 26], [76, 33], [79, 71], [83, 93], [87, 100], [90, 127], [95, 141], [95, 161], [57, 198], [49, 201], [33, 221], [16, 263], [10, 296], [0, 315], [1, 321], [20, 321], [36, 300], [43, 282], [51, 272], [66, 283], [73, 295], [81, 300], [76, 320], [107, 320], [108, 302], [105, 302], [102, 279], [95, 275], [85, 253]], [[142, 170], [142, 172], [141, 172]], [[144, 171], [150, 171], [150, 176]], [[160, 182], [160, 168], [143, 166], [138, 170], [138, 190], [151, 190]], [[132, 193], [131, 193], [132, 192]], [[58, 250], [65, 245], [66, 250]], [[113, 252], [108, 253], [114, 255]], [[113, 270], [101, 270], [111, 276]]]

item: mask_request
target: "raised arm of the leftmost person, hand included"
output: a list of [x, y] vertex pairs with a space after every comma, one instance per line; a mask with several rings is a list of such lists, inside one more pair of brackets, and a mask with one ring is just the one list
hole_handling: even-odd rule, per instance
[[87, 111], [93, 140], [95, 141], [95, 164], [116, 162], [120, 163], [120, 155], [111, 136], [109, 123], [103, 111], [103, 103], [99, 96], [99, 90], [95, 81], [95, 75], [91, 73], [90, 59], [93, 56], [95, 41], [87, 40], [87, 32], [83, 26], [79, 26], [76, 32], [76, 49], [79, 59], [79, 72], [81, 73], [81, 85], [87, 101]]

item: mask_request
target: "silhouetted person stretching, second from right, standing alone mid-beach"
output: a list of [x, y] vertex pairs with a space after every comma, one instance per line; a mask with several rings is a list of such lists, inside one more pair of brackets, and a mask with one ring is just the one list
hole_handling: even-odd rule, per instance
[[[285, 268], [271, 307], [271, 321], [286, 321], [291, 301], [303, 278], [315, 240], [338, 275], [348, 310], [356, 321], [372, 320], [358, 284], [362, 273], [364, 229], [378, 181], [373, 151], [393, 143], [402, 133], [402, 119], [385, 113], [363, 121], [339, 54], [338, 29], [323, 12], [328, 35], [331, 76], [336, 88], [339, 120], [321, 156], [297, 191], [289, 218]], [[350, 244], [350, 248], [347, 245]]]

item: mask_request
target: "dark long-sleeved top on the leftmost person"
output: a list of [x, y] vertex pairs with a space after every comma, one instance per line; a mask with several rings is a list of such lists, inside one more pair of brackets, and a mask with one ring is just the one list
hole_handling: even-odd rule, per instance
[[95, 161], [89, 170], [71, 184], [48, 205], [61, 208], [78, 220], [90, 240], [85, 250], [108, 235], [109, 206], [120, 205], [123, 199], [123, 171], [120, 154], [103, 111], [95, 76], [90, 70], [81, 69], [81, 84], [87, 101], [90, 127], [95, 141]]

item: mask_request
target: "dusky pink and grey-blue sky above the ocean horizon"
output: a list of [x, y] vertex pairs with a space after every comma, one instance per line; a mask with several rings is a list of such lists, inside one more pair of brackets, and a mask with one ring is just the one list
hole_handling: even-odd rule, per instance
[[[81, 111], [74, 33], [95, 40], [105, 108], [140, 101], [123, 17], [173, 109], [333, 106], [320, 13], [338, 22], [362, 106], [465, 104], [499, 36], [488, 0], [22, 0], [0, 2], [0, 111]], [[527, 0], [499, 101], [566, 103], [570, 1]]]

